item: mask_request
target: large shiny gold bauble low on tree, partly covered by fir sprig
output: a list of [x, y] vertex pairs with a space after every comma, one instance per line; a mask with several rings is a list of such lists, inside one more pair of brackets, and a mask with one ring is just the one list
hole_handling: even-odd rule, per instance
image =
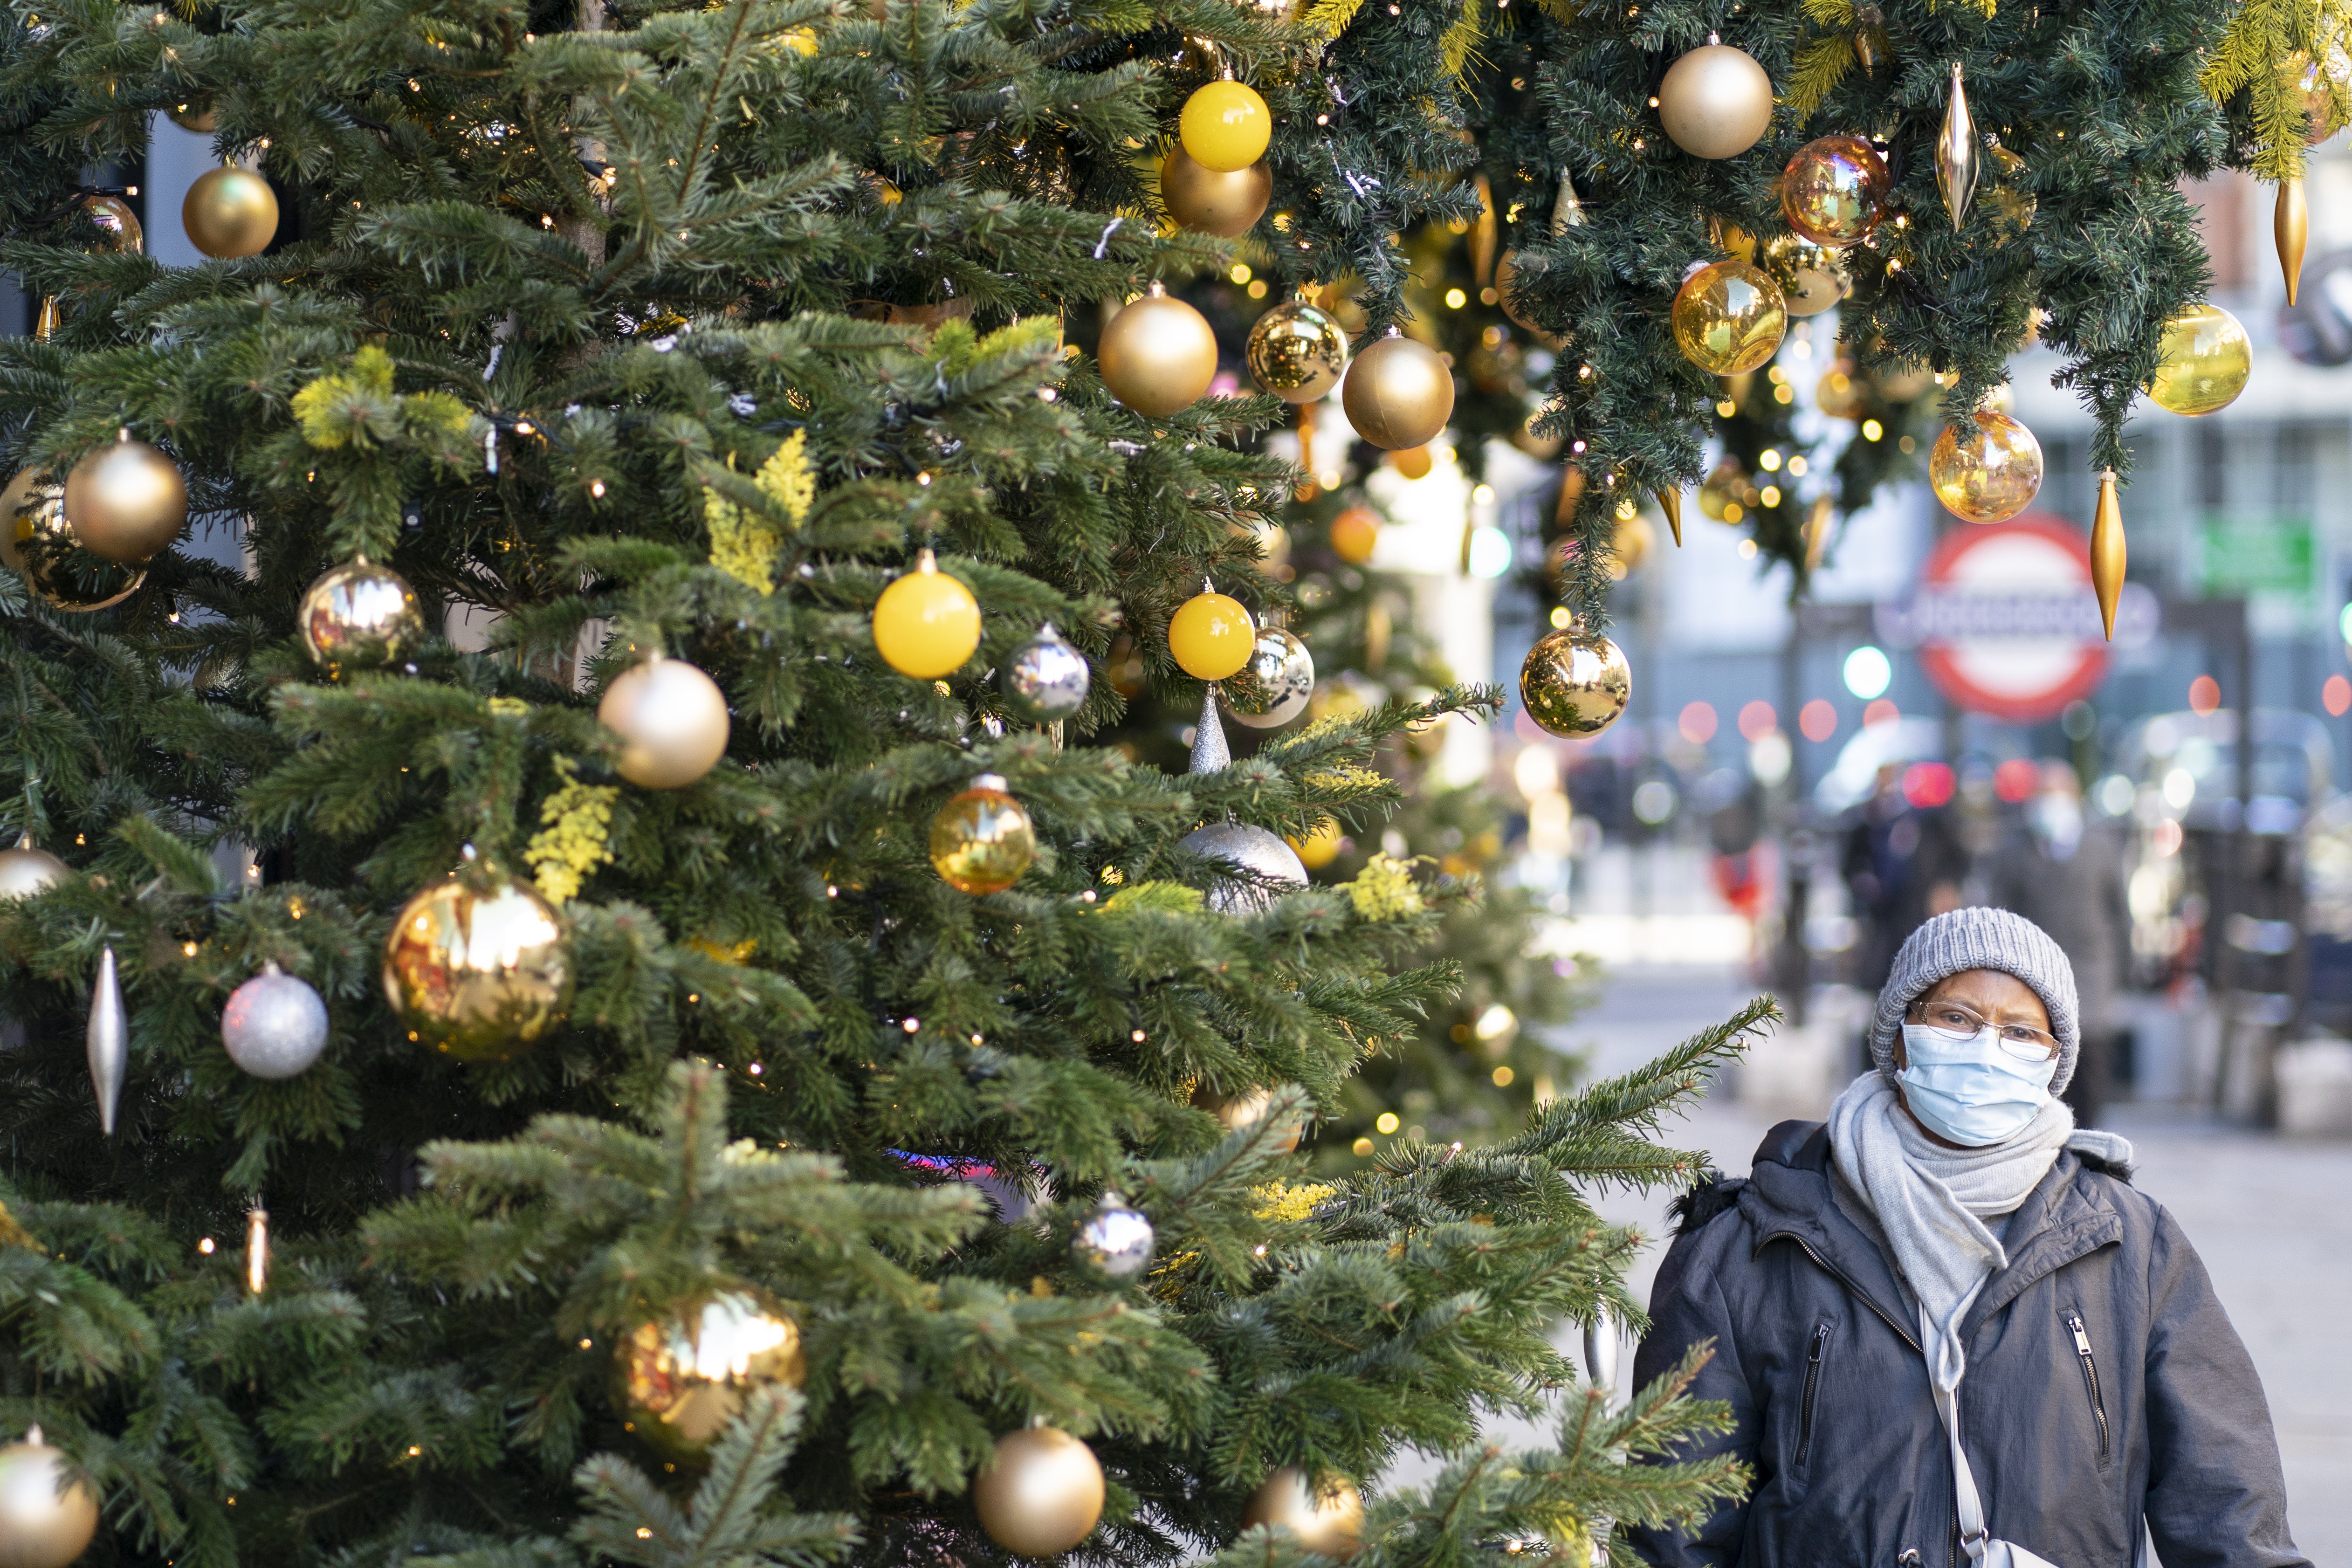
[[736, 1284], [637, 1324], [612, 1359], [612, 1401], [652, 1448], [694, 1462], [755, 1389], [807, 1378], [800, 1324]]

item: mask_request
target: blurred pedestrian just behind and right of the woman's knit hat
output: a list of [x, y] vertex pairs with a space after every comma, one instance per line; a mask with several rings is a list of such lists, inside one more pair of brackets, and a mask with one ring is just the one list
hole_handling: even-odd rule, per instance
[[2074, 964], [2082, 997], [2082, 1060], [2065, 1098], [2093, 1126], [2114, 1086], [2114, 997], [2131, 952], [2124, 907], [2124, 846], [2082, 809], [2072, 764], [2044, 762], [2034, 795], [1992, 863], [1987, 903], [2016, 910], [2051, 933]]

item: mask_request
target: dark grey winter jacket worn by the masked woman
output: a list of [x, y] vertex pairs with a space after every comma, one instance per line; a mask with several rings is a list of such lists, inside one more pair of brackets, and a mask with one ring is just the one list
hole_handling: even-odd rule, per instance
[[[2310, 1568], [2253, 1361], [2173, 1218], [2060, 1154], [1962, 1319], [1962, 1441], [1992, 1533], [2058, 1568]], [[1952, 1462], [1919, 1309], [1830, 1194], [1830, 1135], [1783, 1121], [1755, 1173], [1691, 1194], [1635, 1356], [1646, 1382], [1715, 1342], [1691, 1389], [1731, 1406], [1755, 1493], [1698, 1535], [1630, 1530], [1661, 1568], [1955, 1568]]]

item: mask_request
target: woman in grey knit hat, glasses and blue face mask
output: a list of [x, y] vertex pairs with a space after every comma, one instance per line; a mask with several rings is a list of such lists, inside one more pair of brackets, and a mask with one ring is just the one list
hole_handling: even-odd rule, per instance
[[[2131, 1145], [2079, 1131], [2074, 973], [2006, 910], [1896, 954], [1875, 1072], [1677, 1208], [1635, 1378], [1712, 1345], [1750, 1497], [1663, 1568], [2310, 1568], [2253, 1361]], [[2145, 1521], [2145, 1535], [2143, 1535]]]

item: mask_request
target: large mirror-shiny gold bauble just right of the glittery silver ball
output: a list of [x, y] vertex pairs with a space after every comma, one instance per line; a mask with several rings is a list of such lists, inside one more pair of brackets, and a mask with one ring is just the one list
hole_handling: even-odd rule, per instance
[[409, 1039], [461, 1063], [503, 1063], [564, 1020], [572, 954], [529, 884], [452, 877], [412, 898], [386, 933], [383, 994]]

